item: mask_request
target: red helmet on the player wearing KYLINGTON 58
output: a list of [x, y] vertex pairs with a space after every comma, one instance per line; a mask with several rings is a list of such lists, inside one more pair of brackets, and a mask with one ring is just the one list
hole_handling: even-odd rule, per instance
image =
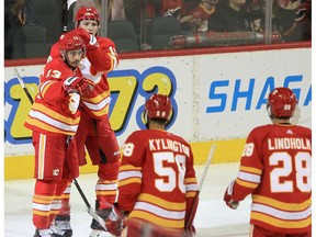
[[167, 122], [171, 117], [172, 105], [168, 95], [153, 94], [145, 103], [144, 119], [160, 119]]

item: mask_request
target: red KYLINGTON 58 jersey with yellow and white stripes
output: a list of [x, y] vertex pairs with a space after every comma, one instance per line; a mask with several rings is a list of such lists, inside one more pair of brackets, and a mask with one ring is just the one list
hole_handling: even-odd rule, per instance
[[128, 218], [183, 229], [198, 184], [190, 145], [160, 129], [134, 132], [124, 144], [119, 206]]

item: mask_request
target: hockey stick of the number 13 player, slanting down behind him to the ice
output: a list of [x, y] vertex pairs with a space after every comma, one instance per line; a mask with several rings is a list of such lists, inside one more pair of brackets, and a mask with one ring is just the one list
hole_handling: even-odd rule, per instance
[[[18, 71], [16, 68], [14, 68], [14, 71], [15, 71], [15, 74], [16, 74], [18, 80], [19, 80], [20, 84], [22, 86], [22, 88], [23, 88], [26, 97], [29, 98], [30, 102], [33, 104], [33, 103], [34, 103], [34, 100], [33, 100], [33, 98], [31, 97], [30, 91], [29, 91], [27, 88], [25, 87], [22, 77], [20, 76], [20, 74], [19, 74], [19, 71]], [[69, 140], [67, 139], [67, 144], [68, 144], [68, 142], [69, 142]], [[66, 166], [68, 167], [67, 161], [66, 161]], [[68, 169], [69, 169], [69, 167], [68, 167]], [[84, 202], [84, 204], [86, 204], [86, 206], [87, 206], [87, 211], [88, 211], [88, 213], [90, 214], [90, 216], [92, 216], [92, 218], [94, 218], [94, 219], [104, 228], [104, 230], [106, 230], [105, 221], [104, 221], [104, 219], [97, 213], [97, 211], [90, 205], [90, 203], [88, 202], [88, 200], [87, 200], [87, 198], [86, 198], [86, 195], [84, 195], [81, 187], [79, 185], [77, 179], [74, 178], [72, 181], [74, 181], [74, 183], [75, 183], [75, 185], [76, 185], [76, 188], [77, 188], [80, 196], [82, 198], [82, 200], [83, 200], [83, 202]]]

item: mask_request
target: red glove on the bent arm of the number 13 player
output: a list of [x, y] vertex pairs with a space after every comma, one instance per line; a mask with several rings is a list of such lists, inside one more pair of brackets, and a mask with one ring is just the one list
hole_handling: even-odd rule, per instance
[[93, 88], [94, 83], [86, 78], [69, 77], [64, 81], [64, 89], [67, 92], [76, 92], [80, 95], [87, 95], [91, 93]]

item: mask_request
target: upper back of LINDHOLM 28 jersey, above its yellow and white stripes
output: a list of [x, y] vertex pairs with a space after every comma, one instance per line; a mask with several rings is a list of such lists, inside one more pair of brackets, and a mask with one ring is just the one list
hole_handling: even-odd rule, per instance
[[255, 194], [293, 203], [305, 201], [311, 194], [312, 131], [294, 125], [267, 125], [253, 133], [264, 167], [262, 189]]

